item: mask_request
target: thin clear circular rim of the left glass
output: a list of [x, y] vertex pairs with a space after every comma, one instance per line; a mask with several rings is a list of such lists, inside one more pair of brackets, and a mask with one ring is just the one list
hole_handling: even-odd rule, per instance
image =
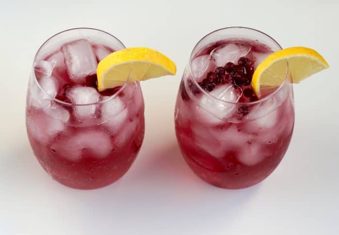
[[31, 72], [31, 76], [33, 76], [34, 78], [34, 82], [37, 84], [38, 88], [40, 90], [42, 90], [49, 98], [51, 101], [54, 101], [56, 103], [60, 103], [62, 105], [66, 105], [66, 106], [87, 106], [87, 105], [96, 105], [96, 104], [100, 104], [100, 103], [105, 103], [107, 101], [110, 101], [112, 99], [114, 99], [115, 97], [117, 97], [121, 92], [122, 90], [127, 86], [128, 82], [129, 82], [129, 76], [128, 76], [128, 79], [125, 81], [125, 83], [123, 85], [121, 85], [121, 87], [119, 88], [119, 90], [117, 92], [115, 92], [113, 95], [111, 96], [107, 96], [106, 99], [104, 100], [101, 100], [101, 101], [97, 101], [97, 102], [94, 102], [94, 103], [85, 103], [85, 104], [77, 104], [77, 103], [69, 103], [69, 102], [65, 102], [65, 101], [61, 101], [59, 99], [57, 99], [56, 97], [52, 97], [50, 96], [39, 84], [36, 76], [35, 76], [35, 72], [34, 72], [34, 65], [35, 65], [35, 62], [36, 62], [36, 58], [37, 58], [37, 55], [38, 53], [40, 52], [40, 50], [42, 50], [42, 48], [46, 45], [46, 43], [51, 40], [52, 38], [54, 38], [55, 36], [59, 35], [59, 34], [63, 34], [65, 32], [68, 32], [68, 31], [74, 31], [74, 30], [92, 30], [92, 31], [98, 31], [98, 32], [101, 32], [101, 33], [104, 33], [104, 34], [107, 34], [108, 36], [111, 36], [112, 38], [114, 38], [115, 40], [117, 40], [122, 46], [123, 48], [126, 48], [125, 45], [122, 43], [122, 41], [120, 41], [116, 36], [112, 35], [112, 34], [109, 34], [103, 30], [99, 30], [99, 29], [95, 29], [95, 28], [86, 28], [86, 27], [80, 27], [80, 28], [72, 28], [72, 29], [67, 29], [67, 30], [63, 30], [59, 33], [56, 33], [56, 34], [53, 34], [52, 36], [50, 36], [40, 47], [39, 49], [36, 51], [35, 55], [34, 55], [34, 59], [33, 59], [33, 65], [32, 65], [32, 72]]

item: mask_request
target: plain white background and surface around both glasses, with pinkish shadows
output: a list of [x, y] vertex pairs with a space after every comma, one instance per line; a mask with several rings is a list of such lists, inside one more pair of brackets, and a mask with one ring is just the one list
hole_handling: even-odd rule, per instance
[[[339, 234], [337, 0], [8, 2], [0, 0], [1, 235]], [[202, 36], [227, 26], [259, 29], [284, 48], [314, 48], [331, 66], [294, 85], [289, 150], [266, 180], [242, 190], [202, 182], [185, 164], [174, 134], [175, 98], [190, 52]], [[137, 160], [117, 183], [91, 191], [46, 174], [24, 121], [35, 52], [49, 36], [74, 27], [102, 29], [127, 47], [160, 50], [178, 70], [142, 83], [146, 133]]]

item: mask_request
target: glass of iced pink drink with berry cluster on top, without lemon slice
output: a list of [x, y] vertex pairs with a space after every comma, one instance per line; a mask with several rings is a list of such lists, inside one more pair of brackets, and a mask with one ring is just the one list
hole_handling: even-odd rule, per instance
[[224, 188], [255, 185], [287, 151], [294, 125], [288, 69], [283, 84], [267, 87], [260, 99], [250, 84], [255, 68], [280, 49], [261, 32], [227, 28], [208, 34], [192, 51], [175, 129], [186, 162], [204, 181]]

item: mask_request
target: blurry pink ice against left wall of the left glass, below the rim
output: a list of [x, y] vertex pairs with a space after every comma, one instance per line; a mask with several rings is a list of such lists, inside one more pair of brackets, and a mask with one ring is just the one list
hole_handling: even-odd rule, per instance
[[48, 143], [66, 129], [60, 119], [49, 117], [44, 112], [28, 115], [26, 124], [29, 134], [42, 144]]

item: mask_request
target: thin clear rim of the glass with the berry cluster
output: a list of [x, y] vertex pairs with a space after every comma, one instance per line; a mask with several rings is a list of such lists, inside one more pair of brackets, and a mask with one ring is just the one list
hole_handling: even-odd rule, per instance
[[[244, 105], [244, 106], [247, 106], [247, 105], [258, 104], [258, 103], [261, 103], [261, 102], [263, 102], [263, 101], [267, 101], [267, 100], [271, 99], [271, 98], [274, 97], [274, 96], [278, 93], [278, 91], [286, 84], [286, 81], [287, 81], [287, 78], [288, 78], [288, 73], [289, 73], [288, 63], [287, 63], [287, 67], [286, 67], [286, 74], [285, 74], [285, 77], [284, 77], [284, 80], [282, 81], [282, 83], [281, 83], [281, 84], [280, 84], [280, 85], [279, 85], [272, 93], [270, 93], [268, 96], [265, 96], [264, 98], [262, 98], [262, 99], [260, 99], [260, 100], [258, 100], [258, 101], [242, 102], [242, 103], [240, 103], [240, 102], [231, 102], [231, 101], [223, 101], [223, 100], [220, 100], [220, 99], [218, 99], [218, 98], [212, 96], [212, 95], [209, 94], [208, 92], [206, 92], [206, 91], [205, 91], [204, 89], [202, 89], [202, 87], [198, 84], [196, 78], [195, 78], [194, 75], [193, 75], [192, 69], [191, 69], [191, 62], [192, 62], [192, 59], [193, 59], [193, 57], [195, 56], [195, 54], [197, 53], [197, 52], [196, 52], [195, 54], [193, 54], [194, 50], [197, 48], [197, 46], [199, 45], [199, 43], [200, 43], [203, 39], [205, 39], [206, 37], [210, 36], [211, 34], [214, 34], [214, 33], [218, 32], [218, 31], [229, 30], [229, 29], [244, 29], [244, 30], [248, 30], [248, 31], [254, 31], [254, 32], [257, 32], [257, 33], [259, 33], [259, 34], [262, 34], [262, 35], [264, 35], [264, 36], [270, 38], [272, 41], [274, 41], [274, 42], [277, 44], [277, 46], [280, 48], [280, 50], [282, 50], [282, 47], [280, 46], [280, 44], [279, 44], [273, 37], [271, 37], [271, 36], [268, 35], [268, 34], [263, 33], [263, 32], [260, 31], [260, 30], [256, 30], [256, 29], [249, 28], [249, 27], [243, 27], [243, 26], [231, 26], [231, 27], [225, 27], [225, 28], [220, 28], [220, 29], [214, 30], [214, 31], [212, 31], [211, 33], [206, 34], [205, 36], [203, 36], [203, 37], [197, 42], [197, 44], [193, 47], [193, 49], [192, 49], [191, 55], [190, 55], [190, 57], [189, 57], [189, 62], [188, 62], [188, 71], [189, 71], [190, 76], [193, 78], [193, 79], [192, 79], [192, 80], [193, 80], [193, 83], [198, 87], [198, 89], [200, 89], [200, 91], [202, 92], [203, 95], [206, 95], [206, 96], [208, 96], [208, 97], [211, 98], [211, 99], [215, 99], [215, 100], [217, 100], [218, 102], [229, 103], [229, 104], [238, 104], [238, 105]], [[247, 38], [244, 37], [243, 39], [247, 39]]]

